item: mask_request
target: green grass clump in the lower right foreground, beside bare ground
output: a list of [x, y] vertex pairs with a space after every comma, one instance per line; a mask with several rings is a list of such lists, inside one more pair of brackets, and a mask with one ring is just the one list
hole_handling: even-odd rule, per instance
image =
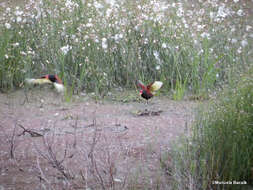
[[[216, 182], [252, 182], [253, 70], [200, 114], [191, 137], [174, 152], [179, 189], [241, 189]], [[203, 111], [203, 110], [202, 110]], [[177, 147], [178, 148], [178, 147]], [[246, 186], [244, 185], [246, 188]]]

